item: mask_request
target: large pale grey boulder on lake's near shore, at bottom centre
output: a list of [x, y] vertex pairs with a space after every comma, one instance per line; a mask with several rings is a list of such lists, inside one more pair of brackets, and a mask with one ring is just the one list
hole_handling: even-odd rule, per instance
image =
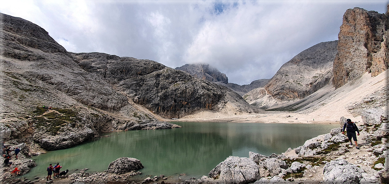
[[245, 184], [260, 178], [259, 168], [252, 159], [237, 156], [228, 157], [211, 172], [209, 174], [211, 177], [214, 173], [220, 173], [217, 180], [226, 184]]

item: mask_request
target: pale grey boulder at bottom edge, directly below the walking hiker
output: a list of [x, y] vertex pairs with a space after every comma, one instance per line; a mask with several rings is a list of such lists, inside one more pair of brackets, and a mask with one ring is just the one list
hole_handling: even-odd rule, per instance
[[336, 159], [324, 165], [323, 184], [359, 184], [363, 169], [345, 159]]

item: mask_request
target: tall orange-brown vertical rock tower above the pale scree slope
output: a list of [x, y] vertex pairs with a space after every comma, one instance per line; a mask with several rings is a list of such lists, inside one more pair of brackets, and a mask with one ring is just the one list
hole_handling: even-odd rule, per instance
[[388, 17], [361, 8], [348, 9], [338, 35], [333, 85], [343, 86], [362, 75], [374, 77], [388, 68]]

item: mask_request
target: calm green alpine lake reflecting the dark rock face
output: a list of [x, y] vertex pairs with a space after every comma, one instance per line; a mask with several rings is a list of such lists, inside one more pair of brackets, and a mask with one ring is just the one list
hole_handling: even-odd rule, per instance
[[61, 171], [89, 168], [86, 172], [107, 170], [120, 157], [137, 158], [144, 166], [140, 177], [186, 173], [185, 177], [208, 175], [228, 156], [248, 157], [249, 151], [266, 156], [281, 154], [317, 135], [328, 133], [339, 124], [287, 123], [175, 123], [182, 128], [106, 133], [102, 137], [68, 149], [33, 156], [37, 163], [29, 179], [47, 176], [50, 163], [60, 163]]

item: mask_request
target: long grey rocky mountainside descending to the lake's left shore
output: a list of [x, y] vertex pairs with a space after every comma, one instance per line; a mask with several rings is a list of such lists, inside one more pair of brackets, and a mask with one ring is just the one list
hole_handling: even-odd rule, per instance
[[[163, 117], [197, 110], [256, 113], [239, 95], [150, 60], [70, 53], [39, 26], [0, 14], [0, 134], [14, 144], [65, 149], [100, 133], [179, 127]], [[52, 108], [48, 108], [52, 107]]]

